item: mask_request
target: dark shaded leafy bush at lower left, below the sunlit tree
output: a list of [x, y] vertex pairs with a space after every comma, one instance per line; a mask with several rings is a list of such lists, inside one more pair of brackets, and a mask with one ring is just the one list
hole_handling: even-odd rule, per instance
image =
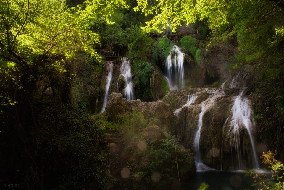
[[[103, 186], [108, 180], [108, 152], [99, 144], [103, 137], [101, 127], [86, 113], [72, 105], [43, 105], [38, 113], [38, 126], [43, 135], [34, 139], [33, 152], [45, 155], [46, 189]], [[32, 134], [33, 131], [36, 129]]]

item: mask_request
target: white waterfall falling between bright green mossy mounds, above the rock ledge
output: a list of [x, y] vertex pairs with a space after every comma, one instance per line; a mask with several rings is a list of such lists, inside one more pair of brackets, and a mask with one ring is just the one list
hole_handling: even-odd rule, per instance
[[[184, 88], [184, 54], [179, 49], [178, 46], [172, 47], [172, 51], [167, 57], [165, 64], [165, 78], [171, 90], [174, 90], [175, 85], [178, 85], [179, 89]], [[172, 56], [172, 54], [174, 55]]]

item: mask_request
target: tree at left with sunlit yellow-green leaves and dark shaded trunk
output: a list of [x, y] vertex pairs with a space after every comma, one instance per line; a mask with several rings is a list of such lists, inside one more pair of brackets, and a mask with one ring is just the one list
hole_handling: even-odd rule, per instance
[[[47, 88], [62, 103], [71, 103], [77, 55], [102, 61], [95, 49], [99, 35], [90, 28], [97, 20], [111, 22], [120, 7], [127, 7], [125, 1], [85, 1], [67, 8], [61, 0], [0, 0], [0, 61], [4, 68], [14, 66], [0, 73], [0, 148], [17, 152], [3, 157], [1, 168], [8, 172], [8, 163], [20, 165], [28, 189], [43, 189], [43, 160], [37, 160], [43, 152], [31, 150], [33, 140], [42, 136], [34, 103]], [[30, 135], [29, 121], [37, 129], [36, 137]]]

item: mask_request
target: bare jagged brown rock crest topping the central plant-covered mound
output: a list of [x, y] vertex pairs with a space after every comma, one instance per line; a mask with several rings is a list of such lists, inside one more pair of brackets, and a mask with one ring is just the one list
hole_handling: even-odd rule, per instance
[[146, 118], [156, 117], [156, 125], [163, 126], [165, 129], [172, 127], [176, 121], [176, 116], [173, 114], [170, 105], [165, 104], [161, 100], [157, 102], [141, 102], [141, 100], [126, 100], [122, 98], [122, 94], [111, 93], [109, 95], [109, 101], [106, 106], [104, 116], [109, 121], [120, 121], [123, 114], [127, 112], [133, 113], [133, 110], [137, 110], [143, 114]]

